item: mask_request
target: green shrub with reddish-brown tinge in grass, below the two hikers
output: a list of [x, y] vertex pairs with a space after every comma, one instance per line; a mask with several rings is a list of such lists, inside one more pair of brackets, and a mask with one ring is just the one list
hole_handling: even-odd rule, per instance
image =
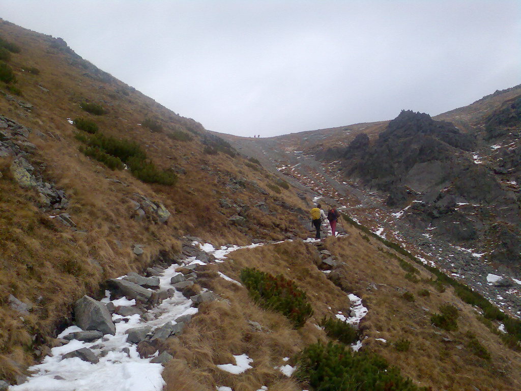
[[302, 327], [313, 314], [305, 292], [281, 274], [274, 277], [255, 268], [245, 268], [241, 271], [241, 279], [254, 302], [281, 312], [296, 328]]

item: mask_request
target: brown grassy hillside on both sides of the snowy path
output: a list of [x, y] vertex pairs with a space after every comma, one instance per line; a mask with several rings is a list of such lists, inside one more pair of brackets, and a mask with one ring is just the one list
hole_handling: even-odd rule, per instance
[[[345, 366], [344, 375], [380, 376], [382, 389], [520, 388], [519, 353], [489, 328], [499, 324], [480, 322], [478, 309], [453, 288], [429, 282], [429, 271], [411, 271], [406, 258], [355, 226], [318, 247], [303, 242], [305, 194], [201, 124], [97, 69], [63, 40], [5, 21], [0, 37], [8, 52], [0, 51], [0, 64], [16, 78], [0, 82], [0, 380], [22, 381], [27, 366], [58, 343], [82, 295], [99, 298], [108, 278], [171, 263], [182, 256], [183, 237], [197, 236], [214, 246], [255, 239], [266, 245], [197, 271], [198, 284], [218, 299], [202, 303], [183, 334], [167, 339], [163, 349], [173, 360], [163, 372], [166, 390], [331, 389], [332, 380], [314, 383], [322, 374], [311, 365], [291, 377], [279, 368], [311, 361], [313, 349], [325, 346], [317, 343], [351, 337], [362, 340], [362, 370]], [[18, 135], [24, 129], [27, 137]], [[38, 186], [22, 185], [20, 165]], [[46, 202], [42, 191], [62, 192], [60, 205]], [[272, 242], [286, 239], [292, 241]], [[327, 270], [318, 250], [337, 265]], [[276, 288], [294, 295], [280, 300], [288, 316], [246, 289], [246, 268], [281, 276]], [[349, 294], [369, 312], [358, 330], [335, 331], [336, 315], [351, 312]], [[303, 324], [291, 322], [302, 308], [312, 313]], [[243, 354], [253, 359], [244, 373], [217, 367]], [[340, 356], [334, 368], [351, 357]], [[400, 382], [408, 388], [395, 387]]]

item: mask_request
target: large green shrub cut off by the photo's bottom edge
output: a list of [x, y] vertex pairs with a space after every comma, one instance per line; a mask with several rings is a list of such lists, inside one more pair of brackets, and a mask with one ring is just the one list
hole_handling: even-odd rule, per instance
[[381, 356], [354, 353], [343, 344], [318, 343], [308, 346], [299, 356], [295, 377], [317, 391], [417, 391], [417, 387], [389, 366]]

